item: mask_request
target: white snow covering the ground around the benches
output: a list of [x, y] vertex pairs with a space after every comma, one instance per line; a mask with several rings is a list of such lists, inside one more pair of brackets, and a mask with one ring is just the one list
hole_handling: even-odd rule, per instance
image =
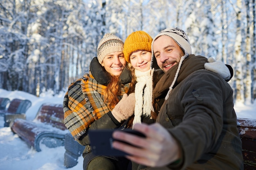
[[[65, 93], [52, 95], [47, 91], [39, 97], [22, 91], [6, 91], [0, 89], [0, 97], [29, 99], [32, 102], [27, 110], [28, 120], [33, 120], [39, 107], [43, 103], [62, 104]], [[234, 106], [237, 117], [256, 119], [256, 102], [252, 105], [236, 103]], [[68, 131], [67, 131], [68, 132]], [[28, 146], [18, 135], [13, 134], [11, 128], [4, 127], [4, 119], [0, 116], [0, 170], [82, 170], [83, 157], [80, 156], [76, 166], [72, 168], [64, 167], [64, 146], [57, 148], [47, 148], [40, 145], [42, 151], [36, 152], [34, 148]]]

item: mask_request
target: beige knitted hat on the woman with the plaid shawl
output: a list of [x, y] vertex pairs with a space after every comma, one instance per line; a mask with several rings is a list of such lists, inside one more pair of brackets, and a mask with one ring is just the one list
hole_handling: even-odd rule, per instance
[[114, 52], [123, 52], [124, 42], [112, 33], [106, 33], [99, 41], [97, 48], [97, 57], [101, 64], [106, 55]]

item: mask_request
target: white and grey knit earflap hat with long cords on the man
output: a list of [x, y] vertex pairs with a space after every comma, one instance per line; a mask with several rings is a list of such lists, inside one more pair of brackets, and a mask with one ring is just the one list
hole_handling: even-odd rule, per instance
[[174, 84], [176, 82], [176, 79], [178, 77], [178, 74], [180, 72], [180, 67], [182, 65], [183, 60], [188, 55], [191, 54], [191, 45], [189, 43], [188, 35], [186, 35], [186, 33], [183, 30], [179, 29], [179, 28], [169, 28], [169, 29], [165, 29], [165, 30], [159, 32], [155, 36], [155, 38], [153, 39], [153, 42], [151, 44], [151, 50], [152, 50], [151, 68], [152, 67], [154, 68], [154, 63], [155, 63], [155, 60], [156, 60], [155, 59], [155, 55], [154, 55], [154, 51], [153, 51], [153, 44], [154, 44], [155, 40], [158, 37], [162, 36], [162, 35], [167, 35], [167, 36], [171, 37], [180, 46], [180, 48], [184, 51], [184, 56], [182, 56], [181, 59], [180, 59], [179, 66], [178, 66], [176, 74], [175, 74], [175, 78], [174, 78], [174, 80], [173, 80], [173, 82], [172, 82], [172, 84], [171, 84], [171, 86], [169, 88], [169, 91], [168, 91], [168, 93], [167, 93], [167, 95], [165, 97], [165, 99], [168, 99], [169, 94], [171, 93], [171, 91], [173, 89], [173, 86], [174, 86]]

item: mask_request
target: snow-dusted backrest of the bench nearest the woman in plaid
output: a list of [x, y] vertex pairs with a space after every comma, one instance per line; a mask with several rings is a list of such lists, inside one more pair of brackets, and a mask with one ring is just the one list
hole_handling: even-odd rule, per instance
[[36, 115], [37, 121], [50, 124], [61, 130], [66, 130], [62, 104], [43, 104]]

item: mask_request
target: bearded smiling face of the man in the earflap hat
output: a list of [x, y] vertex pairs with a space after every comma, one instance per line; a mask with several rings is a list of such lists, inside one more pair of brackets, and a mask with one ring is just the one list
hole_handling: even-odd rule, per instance
[[169, 36], [162, 35], [154, 41], [153, 51], [157, 65], [164, 71], [168, 71], [180, 62], [184, 55], [180, 46]]

